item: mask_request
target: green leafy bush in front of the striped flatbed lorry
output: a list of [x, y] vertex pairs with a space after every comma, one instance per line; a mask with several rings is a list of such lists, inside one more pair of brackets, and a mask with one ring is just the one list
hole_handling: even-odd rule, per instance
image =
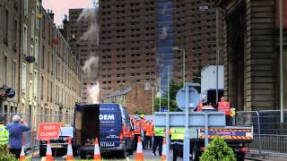
[[204, 150], [200, 161], [236, 161], [234, 152], [220, 136], [216, 136]]

